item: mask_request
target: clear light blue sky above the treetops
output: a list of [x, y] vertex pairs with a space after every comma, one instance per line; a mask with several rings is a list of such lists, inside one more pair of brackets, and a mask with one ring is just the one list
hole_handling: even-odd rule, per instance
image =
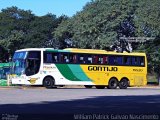
[[31, 10], [37, 16], [52, 13], [57, 16], [69, 17], [81, 11], [83, 6], [91, 0], [0, 0], [0, 10], [11, 6], [19, 9]]

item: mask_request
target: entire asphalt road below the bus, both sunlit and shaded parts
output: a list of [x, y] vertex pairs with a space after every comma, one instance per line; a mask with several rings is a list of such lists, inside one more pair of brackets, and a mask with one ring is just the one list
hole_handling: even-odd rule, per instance
[[151, 115], [160, 119], [160, 88], [0, 89], [0, 115], [3, 120], [76, 119], [77, 115], [77, 119], [98, 119], [98, 115], [101, 119], [111, 119], [111, 115]]

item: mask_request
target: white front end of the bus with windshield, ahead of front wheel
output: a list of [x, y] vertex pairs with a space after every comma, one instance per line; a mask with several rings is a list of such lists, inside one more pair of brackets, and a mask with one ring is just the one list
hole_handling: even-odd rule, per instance
[[36, 80], [34, 80], [33, 77], [39, 75], [40, 61], [41, 51], [38, 49], [33, 49], [30, 51], [27, 49], [22, 49], [16, 51], [13, 56], [11, 68], [12, 84], [39, 84], [35, 83]]

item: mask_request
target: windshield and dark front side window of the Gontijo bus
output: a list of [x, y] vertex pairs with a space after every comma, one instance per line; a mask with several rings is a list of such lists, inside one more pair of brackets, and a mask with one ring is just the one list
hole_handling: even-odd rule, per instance
[[13, 56], [13, 74], [27, 76], [38, 73], [40, 68], [40, 51], [16, 52]]

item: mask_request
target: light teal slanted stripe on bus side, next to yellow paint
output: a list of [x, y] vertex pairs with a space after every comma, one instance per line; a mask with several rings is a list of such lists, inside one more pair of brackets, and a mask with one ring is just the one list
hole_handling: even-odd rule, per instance
[[80, 79], [81, 81], [92, 81], [84, 73], [84, 71], [82, 70], [82, 68], [80, 67], [80, 65], [69, 64], [68, 67], [70, 68], [70, 70], [72, 71], [72, 73], [74, 74], [74, 76], [76, 76], [77, 79]]

